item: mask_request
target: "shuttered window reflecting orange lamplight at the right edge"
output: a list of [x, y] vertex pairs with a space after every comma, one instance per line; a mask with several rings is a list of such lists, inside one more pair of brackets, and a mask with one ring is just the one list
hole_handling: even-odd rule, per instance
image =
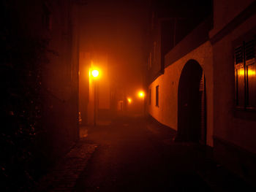
[[241, 42], [234, 49], [236, 107], [256, 110], [255, 38]]

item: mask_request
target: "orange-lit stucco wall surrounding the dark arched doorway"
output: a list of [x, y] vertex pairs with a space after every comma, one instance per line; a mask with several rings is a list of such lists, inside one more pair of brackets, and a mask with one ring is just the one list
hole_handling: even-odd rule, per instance
[[[165, 66], [170, 62], [168, 54], [165, 56]], [[165, 73], [151, 82], [151, 104], [148, 104], [149, 114], [160, 123], [178, 128], [178, 82], [181, 71], [187, 61], [194, 59], [203, 68], [206, 77], [207, 101], [207, 145], [213, 145], [213, 61], [210, 42], [205, 42], [195, 50], [165, 68]], [[159, 85], [159, 107], [156, 106], [156, 86]]]

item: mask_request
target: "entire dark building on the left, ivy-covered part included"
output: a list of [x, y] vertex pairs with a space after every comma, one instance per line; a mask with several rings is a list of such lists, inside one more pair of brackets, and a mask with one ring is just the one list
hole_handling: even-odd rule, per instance
[[1, 181], [26, 188], [78, 140], [81, 1], [1, 1]]

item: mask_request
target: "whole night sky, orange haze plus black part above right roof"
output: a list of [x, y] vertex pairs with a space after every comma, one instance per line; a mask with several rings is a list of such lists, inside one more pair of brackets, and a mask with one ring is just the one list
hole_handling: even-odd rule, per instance
[[200, 20], [209, 4], [211, 1], [86, 1], [80, 7], [80, 50], [107, 53], [110, 80], [130, 91], [140, 89], [145, 79], [142, 70], [147, 69], [146, 28], [151, 25], [152, 9], [159, 17]]

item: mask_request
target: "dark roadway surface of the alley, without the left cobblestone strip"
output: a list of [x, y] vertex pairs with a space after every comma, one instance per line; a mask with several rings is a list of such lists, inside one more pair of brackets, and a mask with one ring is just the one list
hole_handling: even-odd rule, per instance
[[197, 145], [172, 137], [140, 118], [92, 127], [87, 142], [99, 147], [74, 191], [211, 191], [196, 172]]

